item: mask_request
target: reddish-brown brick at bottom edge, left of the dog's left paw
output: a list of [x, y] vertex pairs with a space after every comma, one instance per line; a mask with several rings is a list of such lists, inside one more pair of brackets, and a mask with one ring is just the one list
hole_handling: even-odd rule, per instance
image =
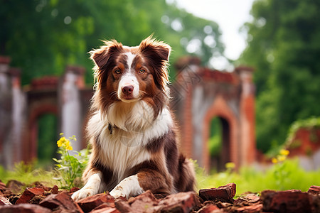
[[59, 208], [61, 212], [78, 212], [83, 213], [82, 209], [79, 205], [73, 201], [73, 199], [68, 195], [68, 192], [61, 192], [56, 195], [49, 195], [40, 202], [42, 207], [46, 207], [48, 209], [56, 209]]

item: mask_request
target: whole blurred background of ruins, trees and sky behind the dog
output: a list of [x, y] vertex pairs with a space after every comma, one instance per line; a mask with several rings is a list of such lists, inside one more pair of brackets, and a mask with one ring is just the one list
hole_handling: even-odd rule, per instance
[[0, 163], [53, 165], [61, 131], [84, 148], [88, 52], [101, 40], [139, 45], [153, 33], [173, 49], [172, 107], [189, 157], [220, 170], [270, 163], [291, 148], [316, 170], [319, 9], [313, 0], [1, 0]]

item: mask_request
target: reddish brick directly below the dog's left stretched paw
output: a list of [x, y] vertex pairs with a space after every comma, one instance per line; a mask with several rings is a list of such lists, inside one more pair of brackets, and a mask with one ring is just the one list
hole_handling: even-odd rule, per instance
[[79, 200], [77, 203], [83, 212], [90, 212], [92, 209], [95, 209], [95, 207], [98, 207], [104, 203], [110, 203], [110, 207], [114, 207], [114, 198], [109, 194], [102, 193], [85, 197], [82, 200]]

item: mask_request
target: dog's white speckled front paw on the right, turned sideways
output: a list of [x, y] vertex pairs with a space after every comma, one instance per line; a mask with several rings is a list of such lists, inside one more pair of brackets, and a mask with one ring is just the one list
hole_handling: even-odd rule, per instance
[[140, 195], [144, 192], [139, 185], [138, 175], [132, 175], [128, 178], [124, 178], [119, 184], [114, 187], [110, 192], [110, 195], [114, 198]]

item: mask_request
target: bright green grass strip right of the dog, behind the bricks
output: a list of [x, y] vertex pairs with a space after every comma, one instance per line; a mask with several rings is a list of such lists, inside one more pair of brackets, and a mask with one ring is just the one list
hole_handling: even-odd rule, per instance
[[237, 185], [237, 194], [261, 192], [262, 190], [302, 190], [306, 192], [311, 185], [320, 185], [320, 170], [305, 171], [297, 159], [277, 163], [265, 171], [253, 167], [240, 168], [238, 173], [227, 170], [223, 173], [205, 175], [196, 168], [198, 189], [219, 187], [229, 182]]

